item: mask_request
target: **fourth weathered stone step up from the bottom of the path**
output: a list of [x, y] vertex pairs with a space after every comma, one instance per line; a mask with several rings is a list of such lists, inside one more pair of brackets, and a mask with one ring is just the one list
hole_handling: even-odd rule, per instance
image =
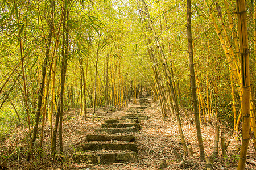
[[117, 133], [133, 133], [138, 132], [139, 128], [131, 127], [131, 128], [101, 128], [95, 130], [98, 133], [106, 133], [106, 134], [117, 134]]

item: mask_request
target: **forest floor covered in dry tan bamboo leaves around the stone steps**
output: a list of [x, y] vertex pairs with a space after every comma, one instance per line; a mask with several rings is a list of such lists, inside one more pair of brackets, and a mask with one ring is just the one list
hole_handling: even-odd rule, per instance
[[[129, 107], [132, 106], [129, 105]], [[26, 161], [26, 152], [29, 144], [28, 129], [17, 128], [0, 145], [0, 169], [1, 167], [2, 169], [159, 169], [162, 160], [166, 160], [166, 169], [205, 169], [205, 162], [200, 162], [192, 112], [189, 112], [189, 117], [185, 119], [181, 111], [181, 118], [185, 141], [187, 146], [191, 145], [193, 148], [193, 158], [183, 156], [175, 118], [169, 116], [166, 120], [163, 120], [158, 107], [154, 103], [144, 112], [149, 117], [148, 120], [142, 120], [140, 132], [134, 133], [136, 137], [135, 143], [138, 145], [139, 162], [99, 165], [77, 164], [73, 162], [72, 155], [76, 152], [76, 148], [80, 143], [86, 142], [87, 134], [95, 134], [94, 130], [100, 128], [104, 120], [121, 117], [124, 113], [124, 109], [112, 111], [110, 108], [101, 108], [97, 109], [96, 117], [89, 116], [85, 120], [84, 117], [79, 116], [78, 109], [66, 111], [63, 122], [65, 153], [63, 155], [63, 162], [61, 162], [60, 156], [58, 156], [57, 161], [56, 158], [51, 156], [49, 124], [44, 128], [42, 150], [36, 144], [34, 147], [34, 159], [30, 159], [30, 161]], [[238, 141], [233, 138], [233, 129], [226, 128], [228, 127], [226, 122], [219, 122], [219, 125], [220, 131], [225, 133], [225, 140], [230, 141], [230, 145], [226, 150], [226, 155], [214, 159], [213, 169], [237, 169], [238, 155], [235, 155], [234, 151]], [[211, 155], [214, 143], [214, 126], [202, 124], [201, 131], [205, 152], [207, 155]], [[39, 141], [37, 142], [40, 143]], [[174, 150], [187, 161], [186, 167], [181, 165], [181, 162], [174, 154]], [[219, 155], [221, 155], [221, 151], [219, 151]], [[256, 164], [253, 162], [256, 160], [256, 155], [251, 141], [247, 155], [247, 160], [251, 160], [251, 163], [246, 162], [245, 169], [256, 169]]]

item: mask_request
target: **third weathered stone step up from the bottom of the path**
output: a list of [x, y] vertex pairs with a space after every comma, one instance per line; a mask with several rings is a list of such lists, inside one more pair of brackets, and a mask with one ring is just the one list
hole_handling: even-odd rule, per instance
[[86, 135], [87, 141], [134, 141], [133, 135]]

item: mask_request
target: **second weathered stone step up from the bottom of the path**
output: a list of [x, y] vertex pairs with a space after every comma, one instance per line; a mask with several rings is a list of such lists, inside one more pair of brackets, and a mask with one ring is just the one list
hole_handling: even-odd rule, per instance
[[98, 151], [98, 150], [130, 150], [137, 152], [137, 145], [131, 142], [122, 143], [105, 143], [105, 142], [89, 142], [80, 145], [82, 151]]

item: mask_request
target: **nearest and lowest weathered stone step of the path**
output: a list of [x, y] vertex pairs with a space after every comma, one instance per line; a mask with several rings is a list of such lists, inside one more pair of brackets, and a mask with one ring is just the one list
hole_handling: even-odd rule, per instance
[[108, 164], [118, 162], [138, 162], [137, 153], [133, 151], [112, 152], [79, 152], [73, 155], [76, 163]]

